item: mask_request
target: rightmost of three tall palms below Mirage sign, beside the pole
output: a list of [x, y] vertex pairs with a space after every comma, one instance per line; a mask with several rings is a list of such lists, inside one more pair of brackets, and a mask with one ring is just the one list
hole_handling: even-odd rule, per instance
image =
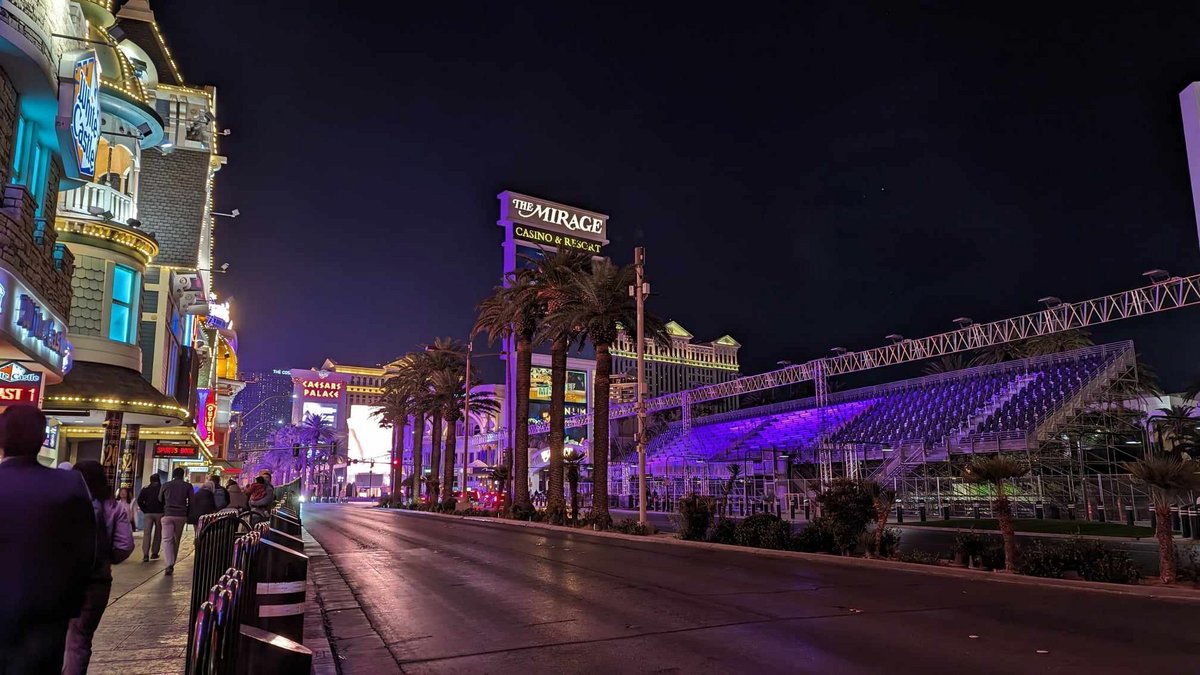
[[[596, 351], [595, 382], [592, 387], [592, 516], [601, 528], [612, 525], [608, 515], [608, 377], [612, 375], [610, 348], [620, 325], [637, 322], [637, 304], [629, 288], [637, 279], [632, 265], [619, 267], [608, 258], [592, 261], [588, 270], [570, 270], [569, 282], [546, 325], [554, 334], [572, 335], [582, 346]], [[666, 340], [666, 329], [652, 313], [643, 316], [646, 336]]]

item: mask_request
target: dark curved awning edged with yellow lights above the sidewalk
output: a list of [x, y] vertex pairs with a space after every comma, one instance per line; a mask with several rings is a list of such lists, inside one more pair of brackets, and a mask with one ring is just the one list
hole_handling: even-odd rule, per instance
[[47, 387], [44, 407], [65, 424], [101, 424], [109, 411], [125, 413], [125, 424], [148, 426], [180, 426], [191, 418], [142, 374], [91, 362], [77, 362], [62, 383]]

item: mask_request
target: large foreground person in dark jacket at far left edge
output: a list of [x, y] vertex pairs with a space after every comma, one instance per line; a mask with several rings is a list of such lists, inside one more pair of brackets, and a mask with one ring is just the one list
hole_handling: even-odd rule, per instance
[[37, 462], [46, 416], [36, 406], [10, 407], [0, 425], [0, 673], [59, 673], [92, 572], [91, 496], [79, 473]]

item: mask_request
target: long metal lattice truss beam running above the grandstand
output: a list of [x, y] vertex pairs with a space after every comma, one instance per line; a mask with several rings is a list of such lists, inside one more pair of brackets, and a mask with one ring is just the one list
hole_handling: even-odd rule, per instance
[[[1169, 310], [1200, 305], [1200, 274], [1175, 276], [1141, 288], [1122, 291], [1082, 300], [1063, 303], [1027, 315], [973, 323], [928, 338], [901, 340], [886, 347], [862, 352], [846, 352], [834, 357], [814, 359], [760, 375], [739, 377], [728, 382], [698, 387], [686, 392], [689, 404], [701, 404], [727, 399], [740, 394], [763, 392], [799, 382], [824, 380], [824, 377], [860, 372], [889, 365], [900, 365], [958, 352], [982, 350], [1027, 338], [1039, 338], [1066, 330], [1088, 328], [1123, 318], [1134, 318]], [[820, 369], [820, 370], [818, 370]], [[818, 387], [821, 389], [821, 387]], [[822, 393], [818, 392], [818, 396]], [[684, 393], [665, 394], [646, 400], [648, 412], [660, 412], [680, 407]], [[632, 417], [635, 404], [616, 404], [610, 408], [608, 419]], [[592, 423], [592, 413], [566, 418], [566, 426], [586, 426]], [[550, 424], [529, 425], [529, 434], [546, 434]]]

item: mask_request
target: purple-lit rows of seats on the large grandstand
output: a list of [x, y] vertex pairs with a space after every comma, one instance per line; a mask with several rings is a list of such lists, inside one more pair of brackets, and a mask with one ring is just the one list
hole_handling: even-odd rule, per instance
[[1030, 434], [1128, 348], [1128, 344], [1088, 347], [840, 392], [830, 396], [823, 414], [812, 399], [805, 399], [696, 419], [688, 432], [676, 423], [650, 444], [650, 458], [727, 461], [822, 443], [947, 448], [950, 441]]

